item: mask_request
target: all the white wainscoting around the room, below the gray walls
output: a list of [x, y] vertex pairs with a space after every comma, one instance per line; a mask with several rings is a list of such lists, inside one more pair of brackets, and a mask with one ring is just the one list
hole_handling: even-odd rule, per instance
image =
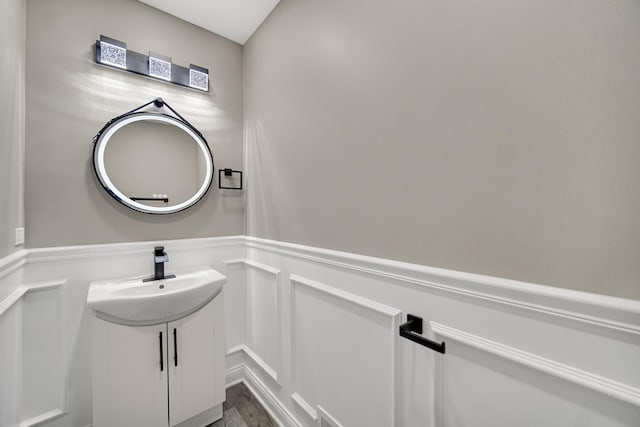
[[227, 379], [282, 426], [640, 425], [640, 301], [235, 236], [0, 259], [1, 427], [91, 424], [89, 283], [151, 274], [156, 245], [227, 274]]

